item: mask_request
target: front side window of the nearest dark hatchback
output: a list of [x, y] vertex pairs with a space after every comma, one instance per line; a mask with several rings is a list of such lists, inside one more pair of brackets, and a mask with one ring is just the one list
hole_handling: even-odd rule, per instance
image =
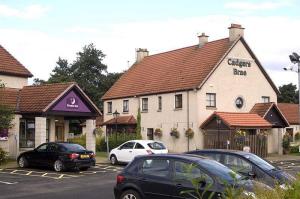
[[205, 172], [201, 171], [197, 165], [174, 161], [174, 180], [192, 182], [193, 180], [205, 180], [207, 184], [213, 184], [213, 179]]

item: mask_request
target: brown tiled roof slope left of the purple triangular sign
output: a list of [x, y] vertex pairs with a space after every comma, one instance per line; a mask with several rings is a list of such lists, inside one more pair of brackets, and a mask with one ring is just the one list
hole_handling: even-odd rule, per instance
[[20, 93], [21, 112], [43, 112], [43, 110], [59, 97], [74, 82], [24, 86]]

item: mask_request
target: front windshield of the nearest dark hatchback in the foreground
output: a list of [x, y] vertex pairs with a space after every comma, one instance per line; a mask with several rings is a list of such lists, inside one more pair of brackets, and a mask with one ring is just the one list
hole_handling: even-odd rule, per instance
[[205, 159], [201, 161], [200, 165], [208, 172], [214, 174], [221, 183], [233, 183], [234, 180], [242, 178], [242, 176], [215, 160]]

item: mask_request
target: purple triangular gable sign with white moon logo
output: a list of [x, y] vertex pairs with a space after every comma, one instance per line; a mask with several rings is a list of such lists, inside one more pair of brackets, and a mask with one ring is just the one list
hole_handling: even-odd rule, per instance
[[79, 97], [74, 91], [69, 92], [68, 95], [62, 98], [52, 110], [85, 113], [91, 112], [86, 103], [83, 102], [81, 97]]

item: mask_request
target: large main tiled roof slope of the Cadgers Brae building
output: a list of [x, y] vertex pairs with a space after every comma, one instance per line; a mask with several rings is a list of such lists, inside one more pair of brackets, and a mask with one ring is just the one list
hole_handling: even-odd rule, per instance
[[198, 87], [231, 47], [228, 38], [145, 57], [102, 99], [180, 91]]

